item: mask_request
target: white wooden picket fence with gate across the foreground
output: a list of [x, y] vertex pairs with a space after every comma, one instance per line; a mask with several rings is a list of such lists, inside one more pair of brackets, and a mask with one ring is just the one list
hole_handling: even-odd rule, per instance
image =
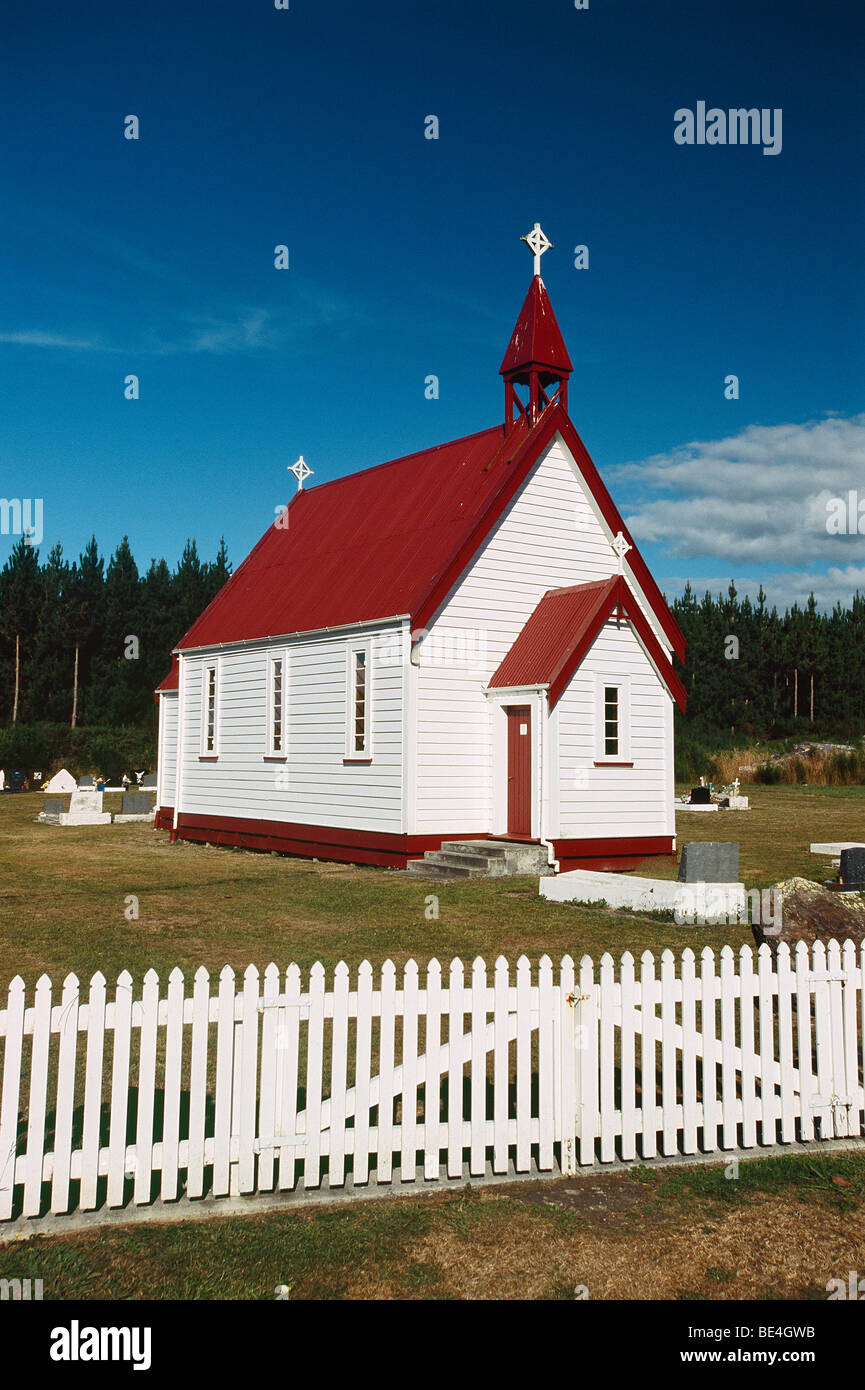
[[[677, 969], [679, 966], [679, 969]], [[134, 998], [21, 979], [0, 1011], [0, 1219], [245, 1193], [576, 1172], [859, 1136], [865, 947], [499, 958]], [[49, 1084], [50, 1083], [50, 1084]], [[49, 1095], [51, 1109], [49, 1111]], [[76, 1188], [74, 1187], [76, 1184]]]

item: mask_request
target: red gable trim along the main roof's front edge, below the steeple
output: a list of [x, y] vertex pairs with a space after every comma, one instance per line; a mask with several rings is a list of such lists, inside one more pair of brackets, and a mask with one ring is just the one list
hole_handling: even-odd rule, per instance
[[[534, 428], [526, 436], [522, 448], [517, 449], [515, 456], [509, 460], [506, 467], [510, 471], [510, 477], [506, 477], [503, 485], [491, 498], [490, 503], [480, 514], [474, 525], [466, 534], [463, 542], [456, 549], [455, 555], [451, 557], [448, 564], [435, 575], [426, 594], [420, 599], [414, 613], [412, 614], [412, 627], [424, 628], [432, 619], [435, 610], [444, 603], [451, 588], [458, 581], [459, 575], [474, 559], [481, 545], [495, 527], [499, 517], [503, 514], [512, 499], [516, 496], [517, 491], [531, 473], [534, 464], [537, 463], [541, 452], [547, 448], [549, 441], [555, 434], [560, 434], [565, 439], [567, 448], [570, 449], [577, 467], [588, 486], [591, 495], [601, 509], [601, 514], [606, 521], [609, 530], [613, 535], [619, 531], [624, 535], [631, 549], [627, 553], [627, 563], [637, 580], [640, 588], [645, 594], [652, 613], [658, 619], [658, 623], [663, 632], [666, 632], [670, 646], [676, 652], [680, 660], [684, 659], [684, 635], [679, 627], [676, 619], [670, 613], [663, 594], [655, 584], [649, 569], [640, 555], [637, 546], [634, 545], [633, 537], [627, 527], [624, 525], [619, 510], [611, 498], [609, 492], [604, 486], [601, 474], [591, 461], [585, 445], [580, 439], [580, 435], [570, 423], [567, 414], [555, 403], [548, 406], [542, 413], [541, 418], [537, 421]], [[666, 657], [665, 657], [666, 660]]]

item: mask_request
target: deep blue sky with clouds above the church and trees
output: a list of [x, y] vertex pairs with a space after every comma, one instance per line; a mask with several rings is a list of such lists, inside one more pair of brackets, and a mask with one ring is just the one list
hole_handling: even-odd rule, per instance
[[[502, 418], [540, 221], [572, 418], [668, 594], [846, 600], [865, 537], [825, 517], [865, 500], [864, 31], [846, 0], [21, 7], [0, 495], [42, 498], [68, 556], [225, 534], [239, 563], [299, 453], [325, 481]], [[698, 101], [780, 108], [780, 153], [677, 145]]]

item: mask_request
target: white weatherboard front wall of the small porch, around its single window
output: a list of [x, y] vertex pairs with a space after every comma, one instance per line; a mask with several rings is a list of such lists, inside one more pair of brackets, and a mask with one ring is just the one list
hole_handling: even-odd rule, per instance
[[[627, 692], [626, 748], [633, 767], [604, 759], [604, 685]], [[672, 699], [629, 624], [608, 621], [556, 706], [560, 840], [674, 835]]]

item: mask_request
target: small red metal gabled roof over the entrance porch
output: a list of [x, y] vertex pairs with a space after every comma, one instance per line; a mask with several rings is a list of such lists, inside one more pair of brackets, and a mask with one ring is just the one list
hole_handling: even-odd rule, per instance
[[613, 609], [633, 623], [670, 694], [684, 710], [684, 685], [622, 574], [567, 589], [549, 589], [495, 671], [490, 688], [548, 685], [552, 709]]

